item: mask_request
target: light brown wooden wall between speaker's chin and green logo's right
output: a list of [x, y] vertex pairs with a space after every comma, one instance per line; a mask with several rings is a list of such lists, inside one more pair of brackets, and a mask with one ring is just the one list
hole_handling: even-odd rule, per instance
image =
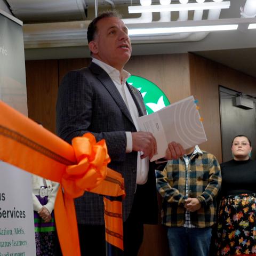
[[190, 95], [188, 54], [133, 56], [125, 69], [155, 83], [170, 102]]

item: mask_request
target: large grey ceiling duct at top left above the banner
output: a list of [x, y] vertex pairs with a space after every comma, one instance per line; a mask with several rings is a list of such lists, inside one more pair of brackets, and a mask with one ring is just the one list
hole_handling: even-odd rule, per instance
[[84, 20], [85, 0], [6, 0], [12, 13], [25, 23]]

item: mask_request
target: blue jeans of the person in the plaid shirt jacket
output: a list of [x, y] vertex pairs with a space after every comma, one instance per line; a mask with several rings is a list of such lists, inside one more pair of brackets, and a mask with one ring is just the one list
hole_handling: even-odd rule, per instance
[[211, 228], [170, 227], [167, 230], [171, 256], [208, 256]]

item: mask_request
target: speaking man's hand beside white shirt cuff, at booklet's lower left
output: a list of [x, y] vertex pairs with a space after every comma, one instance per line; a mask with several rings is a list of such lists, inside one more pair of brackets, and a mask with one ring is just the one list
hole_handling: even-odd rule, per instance
[[155, 137], [151, 132], [132, 132], [132, 150], [142, 151], [141, 159], [151, 159], [157, 152]]

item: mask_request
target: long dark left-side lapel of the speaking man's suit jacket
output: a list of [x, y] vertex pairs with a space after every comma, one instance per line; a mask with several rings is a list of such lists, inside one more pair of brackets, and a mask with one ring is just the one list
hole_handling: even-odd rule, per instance
[[133, 123], [129, 109], [127, 108], [122, 96], [120, 95], [109, 75], [105, 72], [105, 70], [103, 70], [101, 67], [93, 62], [91, 62], [89, 68], [95, 75], [97, 75], [99, 81], [103, 84], [103, 86], [106, 87], [109, 94], [115, 100], [123, 114]]

